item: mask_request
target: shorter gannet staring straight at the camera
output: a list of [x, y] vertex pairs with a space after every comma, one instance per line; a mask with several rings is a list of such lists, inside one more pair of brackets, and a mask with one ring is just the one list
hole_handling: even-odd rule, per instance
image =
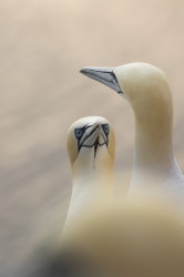
[[90, 205], [111, 196], [115, 136], [108, 120], [89, 116], [71, 125], [67, 145], [72, 171], [72, 196], [65, 226], [69, 222], [73, 224]]

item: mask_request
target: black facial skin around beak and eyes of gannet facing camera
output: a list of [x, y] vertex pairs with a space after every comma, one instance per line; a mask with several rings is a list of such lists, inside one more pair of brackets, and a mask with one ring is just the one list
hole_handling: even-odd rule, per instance
[[[102, 136], [104, 136], [104, 135], [106, 136], [106, 137], [103, 137], [104, 141], [105, 141], [103, 144], [100, 144], [100, 143], [99, 143], [99, 136], [96, 137], [95, 142], [94, 142], [92, 145], [90, 145], [90, 146], [89, 146], [89, 145], [84, 145], [84, 142], [85, 142], [85, 141], [84, 141], [82, 144], [80, 144], [80, 141], [81, 141], [83, 134], [85, 133], [86, 129], [88, 129], [88, 127], [91, 127], [91, 126], [93, 126], [93, 125], [85, 125], [85, 126], [83, 126], [83, 127], [78, 127], [78, 129], [75, 129], [75, 130], [74, 130], [74, 135], [75, 135], [75, 137], [76, 137], [76, 140], [78, 140], [78, 151], [80, 152], [81, 147], [89, 147], [89, 148], [91, 148], [91, 147], [94, 146], [94, 157], [95, 157], [96, 151], [98, 151], [98, 146], [102, 146], [102, 145], [106, 144], [106, 147], [108, 147], [108, 144], [109, 144], [110, 126], [109, 126], [109, 124], [102, 124], [102, 129], [103, 129], [103, 132], [104, 132], [104, 134], [102, 133]], [[95, 130], [96, 130], [98, 127], [99, 127], [99, 126], [96, 126], [95, 129], [93, 129], [93, 130], [91, 131], [91, 133], [85, 137], [85, 140], [86, 140], [88, 137], [90, 137], [90, 136], [95, 132]]]

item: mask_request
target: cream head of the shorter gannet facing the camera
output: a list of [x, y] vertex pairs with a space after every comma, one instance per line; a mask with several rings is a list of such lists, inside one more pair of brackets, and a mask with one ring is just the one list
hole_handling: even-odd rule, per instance
[[83, 117], [74, 122], [67, 136], [72, 170], [98, 171], [113, 165], [114, 132], [108, 120], [100, 116]]

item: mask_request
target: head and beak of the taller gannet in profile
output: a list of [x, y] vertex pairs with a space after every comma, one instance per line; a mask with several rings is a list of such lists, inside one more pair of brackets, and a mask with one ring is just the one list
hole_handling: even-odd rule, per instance
[[160, 120], [166, 111], [172, 117], [172, 96], [167, 78], [160, 69], [147, 63], [129, 63], [116, 68], [84, 68], [84, 75], [94, 79], [125, 98], [136, 119]]

